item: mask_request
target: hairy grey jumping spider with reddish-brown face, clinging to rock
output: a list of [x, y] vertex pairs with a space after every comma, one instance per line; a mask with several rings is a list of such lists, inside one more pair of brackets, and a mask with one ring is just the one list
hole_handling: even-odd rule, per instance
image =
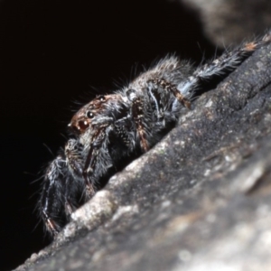
[[69, 222], [72, 211], [101, 188], [103, 179], [163, 138], [181, 110], [191, 107], [203, 83], [234, 70], [270, 41], [268, 33], [197, 68], [177, 57], [166, 57], [123, 89], [81, 107], [69, 124], [72, 138], [45, 173], [39, 210], [46, 229], [55, 236]]

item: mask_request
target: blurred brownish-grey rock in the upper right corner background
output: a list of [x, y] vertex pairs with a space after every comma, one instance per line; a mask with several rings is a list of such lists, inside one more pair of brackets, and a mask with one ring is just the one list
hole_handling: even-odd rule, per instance
[[268, 0], [179, 0], [198, 14], [211, 42], [225, 48], [271, 27]]

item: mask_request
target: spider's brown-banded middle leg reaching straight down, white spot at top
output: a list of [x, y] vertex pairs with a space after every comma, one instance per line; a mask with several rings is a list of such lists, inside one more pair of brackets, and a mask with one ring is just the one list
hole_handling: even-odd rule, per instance
[[135, 121], [135, 126], [137, 133], [140, 138], [140, 145], [144, 152], [147, 152], [150, 149], [146, 139], [146, 127], [144, 124], [144, 102], [142, 98], [136, 97], [135, 89], [128, 89], [126, 91], [127, 98], [132, 102], [131, 115]]

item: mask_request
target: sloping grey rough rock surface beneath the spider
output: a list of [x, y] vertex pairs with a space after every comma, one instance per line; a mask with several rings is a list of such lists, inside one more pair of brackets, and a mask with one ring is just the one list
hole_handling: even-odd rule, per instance
[[270, 270], [271, 45], [16, 270]]

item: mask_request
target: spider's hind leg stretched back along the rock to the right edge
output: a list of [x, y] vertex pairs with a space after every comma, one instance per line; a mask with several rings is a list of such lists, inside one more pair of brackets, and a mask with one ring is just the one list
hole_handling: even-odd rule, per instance
[[234, 70], [242, 61], [248, 58], [259, 47], [271, 42], [271, 34], [267, 33], [262, 39], [247, 42], [233, 51], [225, 51], [220, 58], [198, 67], [188, 79], [182, 81], [177, 89], [186, 97], [191, 97], [201, 84], [201, 81], [211, 79], [213, 76]]

